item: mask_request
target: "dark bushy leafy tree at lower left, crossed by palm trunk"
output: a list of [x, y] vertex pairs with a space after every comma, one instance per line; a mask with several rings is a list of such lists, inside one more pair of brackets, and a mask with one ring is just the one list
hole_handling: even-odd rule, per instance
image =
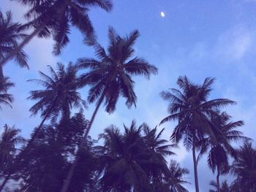
[[[59, 191], [85, 127], [86, 120], [81, 113], [75, 114], [65, 124], [43, 126], [29, 150], [26, 150], [23, 168], [19, 172], [21, 190]], [[92, 144], [91, 141], [86, 142], [78, 153], [80, 162], [70, 191], [84, 191], [94, 184], [93, 173], [97, 161]]]

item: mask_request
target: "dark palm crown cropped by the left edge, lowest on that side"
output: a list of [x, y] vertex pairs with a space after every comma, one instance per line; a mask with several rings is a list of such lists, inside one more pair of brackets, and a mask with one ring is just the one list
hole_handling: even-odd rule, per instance
[[20, 129], [15, 126], [4, 125], [4, 131], [0, 137], [0, 172], [4, 173], [8, 167], [12, 164], [12, 161], [17, 155], [18, 149], [16, 148], [19, 144], [24, 144], [25, 139], [20, 137]]

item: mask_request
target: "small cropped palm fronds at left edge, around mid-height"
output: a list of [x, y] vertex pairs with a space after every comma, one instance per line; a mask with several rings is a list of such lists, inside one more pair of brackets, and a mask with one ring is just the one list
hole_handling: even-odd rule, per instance
[[8, 77], [0, 77], [0, 104], [7, 104], [12, 107], [11, 102], [13, 101], [13, 97], [7, 91], [13, 86], [14, 83], [10, 82]]

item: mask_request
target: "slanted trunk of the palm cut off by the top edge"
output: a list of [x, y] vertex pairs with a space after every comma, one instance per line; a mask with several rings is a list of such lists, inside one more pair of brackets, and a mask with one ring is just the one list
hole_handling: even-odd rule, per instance
[[9, 53], [5, 58], [3, 58], [0, 61], [0, 66], [4, 66], [4, 64], [9, 61], [10, 59], [12, 59], [15, 55], [17, 55], [17, 53], [25, 46], [27, 45], [30, 40], [35, 37], [37, 34], [39, 34], [40, 31], [42, 31], [42, 28], [45, 27], [45, 24], [48, 23], [48, 21], [50, 20], [50, 18], [48, 18], [48, 20], [46, 20], [46, 22], [41, 23], [40, 26], [38, 26], [29, 36], [27, 36], [23, 42], [20, 43], [20, 45], [18, 45], [18, 47], [15, 47], [15, 50], [13, 50], [11, 53]]

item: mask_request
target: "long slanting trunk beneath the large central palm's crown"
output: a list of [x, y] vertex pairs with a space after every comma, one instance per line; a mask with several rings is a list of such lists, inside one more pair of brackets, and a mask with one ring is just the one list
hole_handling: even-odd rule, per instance
[[[89, 131], [90, 131], [91, 126], [92, 126], [92, 123], [94, 123], [94, 118], [95, 118], [96, 115], [97, 115], [97, 112], [98, 112], [98, 110], [99, 110], [100, 105], [102, 104], [102, 101], [103, 101], [103, 99], [104, 99], [104, 96], [105, 96], [105, 93], [107, 92], [107, 90], [108, 90], [108, 88], [105, 88], [105, 91], [103, 91], [102, 96], [100, 96], [100, 98], [99, 98], [99, 101], [98, 101], [97, 106], [96, 106], [96, 108], [95, 108], [95, 110], [94, 110], [94, 113], [93, 113], [93, 115], [91, 116], [91, 120], [90, 120], [90, 122], [89, 122], [89, 126], [86, 128], [86, 132], [85, 132], [85, 134], [83, 135], [83, 138], [82, 138], [82, 140], [80, 141], [80, 144], [79, 144], [79, 146], [78, 146], [78, 152], [79, 152], [80, 148], [83, 147], [83, 145], [86, 143], [86, 139], [87, 139], [87, 137], [88, 137]], [[75, 161], [72, 163], [72, 166], [69, 168], [69, 172], [67, 173], [67, 178], [66, 178], [66, 180], [64, 181], [64, 185], [62, 185], [61, 192], [67, 192], [67, 190], [68, 190], [68, 188], [69, 188], [69, 184], [70, 184], [70, 182], [71, 182], [71, 180], [72, 180], [72, 176], [73, 176], [73, 174], [74, 174], [74, 172], [75, 172], [75, 167], [76, 167], [77, 164], [78, 164], [78, 158], [79, 158], [79, 157], [78, 157], [78, 153], [77, 153], [77, 154], [76, 154], [76, 157], [75, 157]]]

